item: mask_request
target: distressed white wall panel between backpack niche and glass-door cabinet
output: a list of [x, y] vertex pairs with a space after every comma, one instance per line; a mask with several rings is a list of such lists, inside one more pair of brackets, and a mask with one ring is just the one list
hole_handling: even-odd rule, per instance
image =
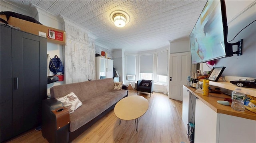
[[65, 77], [66, 84], [95, 80], [95, 45], [80, 26], [65, 20]]

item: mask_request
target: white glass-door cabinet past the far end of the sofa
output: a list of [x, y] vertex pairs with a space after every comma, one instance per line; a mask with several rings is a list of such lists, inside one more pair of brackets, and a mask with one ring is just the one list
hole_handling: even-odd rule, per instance
[[96, 79], [112, 78], [113, 63], [112, 59], [96, 57]]

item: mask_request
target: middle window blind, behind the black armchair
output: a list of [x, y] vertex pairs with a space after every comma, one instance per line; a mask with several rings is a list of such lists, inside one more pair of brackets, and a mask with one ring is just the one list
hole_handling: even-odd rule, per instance
[[153, 55], [140, 56], [140, 73], [153, 73]]

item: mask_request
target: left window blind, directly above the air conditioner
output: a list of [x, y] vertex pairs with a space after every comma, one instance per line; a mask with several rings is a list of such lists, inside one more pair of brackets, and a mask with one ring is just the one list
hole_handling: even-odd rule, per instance
[[126, 55], [126, 74], [136, 74], [136, 56]]

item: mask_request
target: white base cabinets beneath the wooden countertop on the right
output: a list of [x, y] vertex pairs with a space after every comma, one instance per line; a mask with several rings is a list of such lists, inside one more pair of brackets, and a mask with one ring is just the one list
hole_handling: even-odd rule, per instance
[[[198, 96], [190, 92], [183, 86], [182, 120], [185, 126], [191, 112], [190, 98]], [[256, 143], [256, 120], [217, 113], [199, 98], [196, 99], [194, 116], [194, 143]]]

